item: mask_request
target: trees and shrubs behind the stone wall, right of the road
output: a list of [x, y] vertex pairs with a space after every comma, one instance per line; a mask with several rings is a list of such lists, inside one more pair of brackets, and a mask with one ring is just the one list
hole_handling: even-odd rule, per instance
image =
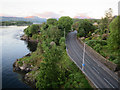
[[120, 67], [120, 16], [113, 17], [112, 9], [97, 22], [86, 20], [73, 24], [78, 37], [109, 61]]

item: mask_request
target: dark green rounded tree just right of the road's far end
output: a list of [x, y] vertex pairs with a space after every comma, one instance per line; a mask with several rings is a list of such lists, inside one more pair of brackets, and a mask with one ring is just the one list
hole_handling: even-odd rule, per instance
[[89, 32], [94, 32], [95, 29], [95, 26], [93, 26], [89, 20], [85, 19], [79, 24], [78, 35], [81, 37], [86, 37]]

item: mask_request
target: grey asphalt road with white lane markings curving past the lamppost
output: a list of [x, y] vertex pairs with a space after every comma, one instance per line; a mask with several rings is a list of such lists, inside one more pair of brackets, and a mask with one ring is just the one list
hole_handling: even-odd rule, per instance
[[[70, 32], [66, 37], [66, 50], [69, 57], [81, 69], [83, 46], [76, 38], [76, 31]], [[85, 51], [85, 66], [83, 73], [95, 85], [96, 88], [105, 89], [118, 89], [119, 81], [118, 76], [110, 71], [105, 65], [96, 60], [89, 52]]]

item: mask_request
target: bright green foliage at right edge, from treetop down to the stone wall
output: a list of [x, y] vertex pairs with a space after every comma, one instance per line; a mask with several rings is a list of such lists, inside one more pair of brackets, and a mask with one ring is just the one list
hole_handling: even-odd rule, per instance
[[107, 39], [108, 49], [113, 52], [116, 59], [111, 59], [115, 64], [120, 66], [120, 16], [117, 16], [109, 25], [110, 34]]

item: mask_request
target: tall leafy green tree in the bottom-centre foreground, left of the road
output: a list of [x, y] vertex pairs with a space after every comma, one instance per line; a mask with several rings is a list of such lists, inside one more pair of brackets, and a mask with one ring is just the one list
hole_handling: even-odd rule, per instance
[[56, 45], [51, 49], [45, 45], [43, 62], [40, 63], [40, 72], [37, 76], [37, 88], [58, 88], [60, 71], [57, 63], [61, 59], [61, 51]]

